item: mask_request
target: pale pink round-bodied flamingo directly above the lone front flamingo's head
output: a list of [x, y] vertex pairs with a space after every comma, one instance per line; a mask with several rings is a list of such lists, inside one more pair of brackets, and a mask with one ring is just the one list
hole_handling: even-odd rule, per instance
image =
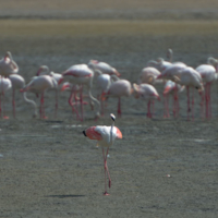
[[118, 117], [121, 117], [121, 97], [130, 97], [133, 93], [131, 83], [126, 80], [118, 80], [112, 83], [107, 93], [104, 93], [104, 96], [116, 97], [118, 98]]

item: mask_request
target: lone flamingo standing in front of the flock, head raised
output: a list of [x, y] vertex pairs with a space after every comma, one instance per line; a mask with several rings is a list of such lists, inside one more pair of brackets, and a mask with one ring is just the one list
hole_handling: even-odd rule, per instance
[[[105, 165], [105, 193], [104, 195], [109, 195], [107, 192], [107, 173], [109, 179], [109, 187], [111, 186], [111, 179], [107, 166], [107, 157], [108, 157], [108, 150], [109, 147], [113, 145], [116, 138], [122, 138], [121, 131], [114, 126], [116, 116], [110, 114], [110, 118], [112, 119], [111, 126], [106, 125], [97, 125], [97, 126], [90, 126], [83, 131], [83, 134], [87, 136], [90, 140], [97, 140], [98, 145], [102, 147], [102, 157], [104, 157], [104, 165]], [[105, 153], [104, 147], [107, 147], [107, 152]]]

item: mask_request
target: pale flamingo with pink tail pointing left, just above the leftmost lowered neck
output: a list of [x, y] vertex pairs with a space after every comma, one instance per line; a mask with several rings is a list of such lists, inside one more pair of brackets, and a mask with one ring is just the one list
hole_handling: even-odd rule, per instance
[[40, 76], [34, 76], [32, 81], [23, 87], [20, 92], [32, 92], [35, 94], [40, 94], [40, 118], [41, 119], [47, 119], [45, 116], [45, 109], [44, 109], [44, 95], [45, 90], [48, 88], [55, 88], [57, 86], [57, 83], [55, 82], [53, 78], [49, 75], [40, 75]]

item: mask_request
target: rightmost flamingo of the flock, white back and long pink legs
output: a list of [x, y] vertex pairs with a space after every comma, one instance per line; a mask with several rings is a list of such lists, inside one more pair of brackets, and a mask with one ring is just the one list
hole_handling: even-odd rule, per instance
[[[206, 106], [206, 118], [211, 118], [211, 102], [210, 102], [210, 87], [211, 83], [216, 80], [218, 70], [218, 62], [216, 66], [209, 64], [202, 64], [196, 68], [196, 71], [201, 74], [203, 83], [205, 84], [205, 106]], [[204, 95], [202, 95], [202, 112], [204, 112]]]

